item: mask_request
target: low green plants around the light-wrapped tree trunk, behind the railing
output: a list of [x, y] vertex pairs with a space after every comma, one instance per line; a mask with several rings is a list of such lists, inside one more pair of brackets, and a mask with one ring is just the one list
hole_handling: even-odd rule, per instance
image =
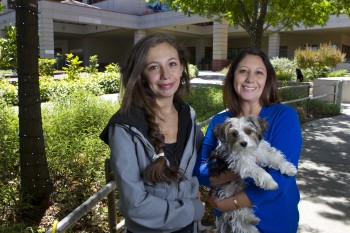
[[[62, 219], [104, 186], [104, 160], [109, 156], [109, 148], [99, 139], [99, 134], [118, 108], [117, 102], [86, 92], [42, 105], [46, 154], [50, 177], [55, 182], [52, 200], [55, 205], [59, 203], [59, 208], [51, 210], [54, 219]], [[0, 232], [31, 232], [30, 229], [38, 232], [40, 228], [20, 224], [16, 217], [19, 142], [18, 113], [14, 108], [0, 108], [0, 127]], [[105, 204], [101, 203], [93, 212], [96, 217], [84, 222], [91, 225], [76, 224], [73, 231], [79, 227], [107, 225]], [[87, 217], [91, 215], [90, 212]]]

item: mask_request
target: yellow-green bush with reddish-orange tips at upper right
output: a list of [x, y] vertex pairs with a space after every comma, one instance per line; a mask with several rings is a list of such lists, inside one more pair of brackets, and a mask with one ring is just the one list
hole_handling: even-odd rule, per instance
[[345, 54], [339, 49], [334, 48], [331, 43], [321, 44], [320, 48], [313, 50], [310, 46], [305, 49], [295, 51], [295, 61], [301, 69], [310, 69], [312, 76], [310, 80], [318, 77], [326, 77], [326, 70], [329, 72], [329, 66], [335, 67], [344, 61]]

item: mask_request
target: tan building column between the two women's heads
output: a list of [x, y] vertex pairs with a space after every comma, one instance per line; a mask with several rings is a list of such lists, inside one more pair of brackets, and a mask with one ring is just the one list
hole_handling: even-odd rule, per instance
[[227, 64], [228, 23], [214, 22], [213, 26], [213, 61], [212, 70], [223, 69]]

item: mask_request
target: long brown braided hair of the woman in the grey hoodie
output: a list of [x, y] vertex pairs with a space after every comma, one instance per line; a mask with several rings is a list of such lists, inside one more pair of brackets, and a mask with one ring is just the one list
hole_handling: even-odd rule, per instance
[[[158, 106], [155, 95], [150, 89], [147, 79], [143, 78], [143, 72], [146, 68], [146, 57], [149, 49], [162, 43], [167, 43], [177, 50], [180, 63], [184, 67], [180, 86], [174, 95], [174, 100], [181, 100], [182, 96], [189, 93], [190, 87], [187, 54], [173, 37], [157, 33], [139, 40], [134, 45], [126, 65], [121, 70], [121, 82], [124, 89], [121, 112], [126, 113], [130, 107], [137, 107], [143, 111], [148, 123], [148, 134], [157, 154], [165, 151], [165, 138], [160, 133], [156, 123]], [[153, 183], [176, 182], [180, 177], [180, 172], [178, 168], [168, 166], [166, 158], [161, 156], [147, 167], [144, 175], [148, 181]]]

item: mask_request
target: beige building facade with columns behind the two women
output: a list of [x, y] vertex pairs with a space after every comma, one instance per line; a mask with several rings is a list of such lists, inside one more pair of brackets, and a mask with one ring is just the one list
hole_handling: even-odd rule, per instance
[[[15, 25], [13, 0], [3, 0], [0, 30]], [[190, 53], [190, 62], [200, 69], [219, 70], [240, 50], [250, 47], [248, 34], [240, 27], [217, 23], [200, 16], [187, 16], [144, 0], [39, 0], [40, 57], [78, 55], [88, 65], [97, 55], [100, 67], [123, 64], [132, 46], [153, 32], [173, 35]], [[317, 48], [332, 43], [350, 61], [350, 18], [330, 16], [323, 27], [295, 28], [265, 36], [262, 50], [269, 57], [294, 57], [305, 45]], [[343, 64], [345, 67], [349, 63]], [[349, 69], [348, 69], [349, 70]]]

